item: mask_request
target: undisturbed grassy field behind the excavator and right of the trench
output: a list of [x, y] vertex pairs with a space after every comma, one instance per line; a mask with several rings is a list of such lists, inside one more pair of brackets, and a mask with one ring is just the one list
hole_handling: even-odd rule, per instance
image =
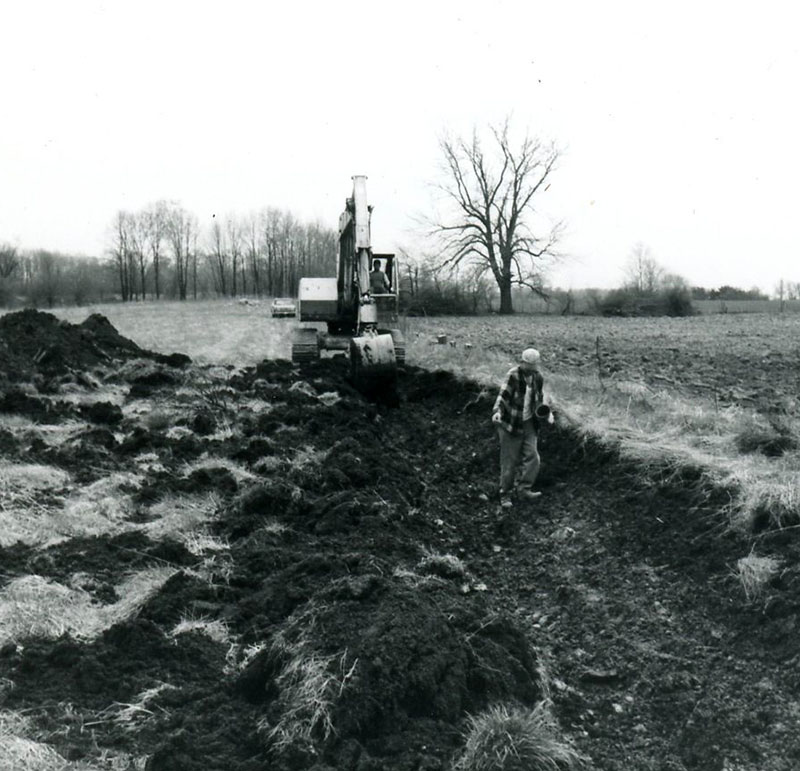
[[[289, 358], [294, 319], [268, 303], [141, 303], [92, 308], [141, 346], [200, 363]], [[82, 321], [88, 309], [56, 314]], [[517, 352], [543, 354], [548, 398], [575, 428], [658, 473], [702, 470], [732, 491], [730, 522], [795, 524], [800, 454], [795, 394], [800, 315], [692, 318], [408, 318], [410, 364], [496, 387]], [[437, 343], [442, 336], [447, 342]], [[760, 452], [784, 441], [778, 456]], [[742, 452], [752, 445], [754, 451]]]

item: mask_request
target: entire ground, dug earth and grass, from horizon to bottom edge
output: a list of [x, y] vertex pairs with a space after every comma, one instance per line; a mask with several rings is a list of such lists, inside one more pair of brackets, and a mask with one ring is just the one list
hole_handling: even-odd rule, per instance
[[0, 767], [798, 767], [800, 319], [409, 319], [390, 407], [267, 307], [0, 317]]

